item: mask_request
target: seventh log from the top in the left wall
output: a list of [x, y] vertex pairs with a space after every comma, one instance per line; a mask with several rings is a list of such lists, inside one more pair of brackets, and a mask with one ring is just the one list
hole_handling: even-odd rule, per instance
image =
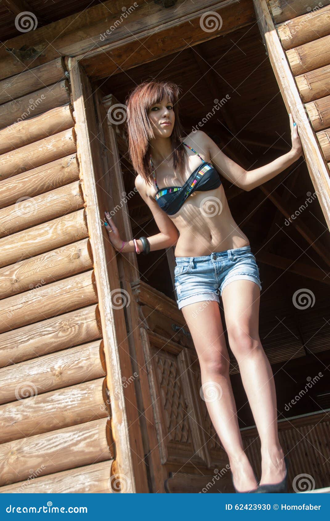
[[88, 237], [85, 210], [57, 217], [0, 239], [0, 267]]

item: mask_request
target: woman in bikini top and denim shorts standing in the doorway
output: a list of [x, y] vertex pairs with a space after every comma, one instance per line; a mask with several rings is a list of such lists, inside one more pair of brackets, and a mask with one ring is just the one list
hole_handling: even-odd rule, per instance
[[[177, 304], [198, 354], [202, 389], [215, 430], [229, 456], [236, 492], [286, 491], [287, 459], [278, 440], [274, 378], [259, 338], [260, 279], [245, 233], [230, 212], [219, 173], [243, 190], [269, 181], [294, 163], [302, 148], [290, 114], [290, 152], [245, 171], [201, 130], [184, 138], [170, 82], [144, 82], [128, 98], [127, 131], [135, 187], [160, 233], [123, 241], [105, 212], [109, 239], [121, 253], [148, 253], [176, 243]], [[257, 479], [243, 448], [229, 377], [229, 354], [219, 311], [222, 297], [229, 343], [261, 440], [262, 475]], [[237, 488], [236, 488], [237, 487]]]

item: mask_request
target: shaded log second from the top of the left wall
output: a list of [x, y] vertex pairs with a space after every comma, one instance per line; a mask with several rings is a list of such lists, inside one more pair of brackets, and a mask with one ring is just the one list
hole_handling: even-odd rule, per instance
[[66, 103], [70, 103], [70, 85], [67, 80], [63, 80], [40, 91], [0, 105], [0, 128]]

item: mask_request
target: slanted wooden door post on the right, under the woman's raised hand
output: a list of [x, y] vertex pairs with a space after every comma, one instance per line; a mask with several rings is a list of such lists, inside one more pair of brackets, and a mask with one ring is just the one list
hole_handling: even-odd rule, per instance
[[[316, 140], [315, 133], [313, 132], [304, 111], [295, 79], [289, 68], [281, 42], [276, 33], [273, 20], [268, 10], [268, 5], [265, 0], [253, 0], [253, 5], [255, 6], [259, 29], [261, 34], [264, 35], [268, 55], [285, 106], [288, 113], [291, 113], [294, 120], [297, 122], [299, 137], [302, 143], [308, 171], [315, 192], [318, 195], [325, 220], [330, 228], [329, 170], [324, 162], [324, 158], [322, 157], [322, 152], [318, 141]], [[324, 249], [322, 248], [321, 251], [321, 256], [323, 257], [325, 254]], [[326, 256], [328, 257], [328, 253]]]

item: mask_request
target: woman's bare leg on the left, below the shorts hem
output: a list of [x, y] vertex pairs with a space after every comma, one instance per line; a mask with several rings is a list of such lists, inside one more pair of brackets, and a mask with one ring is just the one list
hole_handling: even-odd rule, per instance
[[206, 400], [206, 406], [229, 456], [234, 485], [242, 491], [255, 489], [258, 483], [244, 452], [237, 421], [219, 305], [214, 301], [203, 301], [184, 306], [181, 311], [198, 355], [204, 395], [206, 398], [208, 394], [214, 395], [214, 400]]

